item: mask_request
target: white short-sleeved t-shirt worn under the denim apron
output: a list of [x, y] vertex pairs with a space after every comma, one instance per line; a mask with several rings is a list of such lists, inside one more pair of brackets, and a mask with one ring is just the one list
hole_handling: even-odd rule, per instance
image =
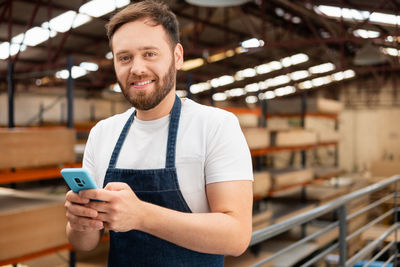
[[[112, 151], [133, 108], [102, 120], [90, 131], [83, 157], [102, 188]], [[135, 117], [116, 168], [165, 168], [169, 115], [153, 121]], [[205, 185], [253, 180], [250, 151], [235, 115], [185, 99], [176, 143], [178, 183], [192, 212], [209, 212]]]

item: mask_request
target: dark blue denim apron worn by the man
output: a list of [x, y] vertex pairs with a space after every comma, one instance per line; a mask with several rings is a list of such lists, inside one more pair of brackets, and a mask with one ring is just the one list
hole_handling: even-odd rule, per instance
[[[166, 166], [164, 169], [117, 169], [115, 166], [118, 155], [135, 117], [135, 110], [126, 122], [111, 155], [104, 186], [110, 182], [124, 182], [143, 201], [181, 212], [191, 212], [179, 189], [175, 168], [176, 136], [180, 112], [181, 100], [176, 96], [170, 115]], [[137, 230], [128, 232], [110, 231], [108, 257], [108, 266], [110, 267], [220, 267], [223, 265], [223, 255], [199, 253]]]

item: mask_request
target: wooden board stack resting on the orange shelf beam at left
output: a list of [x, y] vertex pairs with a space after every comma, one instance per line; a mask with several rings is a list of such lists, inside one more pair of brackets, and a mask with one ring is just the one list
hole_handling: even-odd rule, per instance
[[0, 129], [0, 169], [73, 163], [74, 144], [67, 128]]

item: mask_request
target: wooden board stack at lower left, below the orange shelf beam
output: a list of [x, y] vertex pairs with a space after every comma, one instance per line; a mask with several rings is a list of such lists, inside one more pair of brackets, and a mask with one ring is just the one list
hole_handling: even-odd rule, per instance
[[0, 261], [68, 243], [64, 197], [1, 189]]

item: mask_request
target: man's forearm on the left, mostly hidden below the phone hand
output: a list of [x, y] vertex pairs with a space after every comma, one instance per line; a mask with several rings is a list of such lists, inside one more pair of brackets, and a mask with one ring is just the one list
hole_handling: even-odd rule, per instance
[[103, 230], [76, 231], [71, 228], [69, 222], [67, 223], [66, 232], [70, 244], [76, 250], [82, 251], [90, 251], [96, 248], [103, 235]]

